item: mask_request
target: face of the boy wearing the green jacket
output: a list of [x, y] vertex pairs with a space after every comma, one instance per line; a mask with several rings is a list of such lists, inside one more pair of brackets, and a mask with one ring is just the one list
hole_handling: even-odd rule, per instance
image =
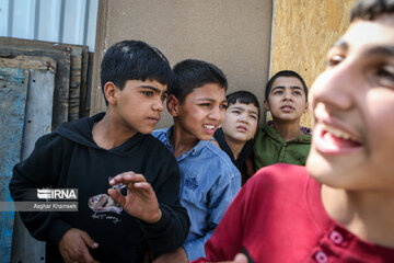
[[264, 102], [267, 111], [270, 111], [274, 121], [299, 122], [301, 115], [308, 111], [305, 92], [301, 81], [296, 77], [278, 77]]

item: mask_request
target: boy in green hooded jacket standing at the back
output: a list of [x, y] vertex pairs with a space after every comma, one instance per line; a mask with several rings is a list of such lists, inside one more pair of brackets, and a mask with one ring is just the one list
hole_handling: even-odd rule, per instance
[[311, 129], [300, 126], [308, 111], [308, 88], [294, 71], [277, 72], [267, 83], [264, 106], [273, 121], [257, 130], [254, 145], [256, 170], [278, 162], [305, 165]]

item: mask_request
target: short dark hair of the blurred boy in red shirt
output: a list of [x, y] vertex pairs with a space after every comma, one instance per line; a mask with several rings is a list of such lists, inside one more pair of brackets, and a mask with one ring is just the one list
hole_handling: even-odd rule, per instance
[[360, 0], [350, 12], [350, 22], [374, 20], [382, 14], [394, 13], [394, 0]]

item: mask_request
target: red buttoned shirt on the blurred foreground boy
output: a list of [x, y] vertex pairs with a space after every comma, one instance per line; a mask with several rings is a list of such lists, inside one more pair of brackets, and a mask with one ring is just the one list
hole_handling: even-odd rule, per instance
[[328, 217], [304, 167], [282, 163], [250, 179], [205, 244], [207, 259], [195, 262], [230, 261], [243, 248], [254, 262], [394, 262], [394, 249], [362, 241]]

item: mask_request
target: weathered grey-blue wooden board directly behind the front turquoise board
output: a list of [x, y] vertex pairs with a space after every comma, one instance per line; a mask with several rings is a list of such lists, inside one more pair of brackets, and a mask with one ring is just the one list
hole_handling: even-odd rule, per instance
[[[55, 90], [56, 61], [49, 57], [19, 56], [0, 58], [0, 67], [8, 66], [30, 71], [25, 119], [23, 126], [22, 157], [33, 151], [35, 141], [50, 133]], [[19, 214], [15, 215], [11, 262], [39, 263], [45, 259], [45, 242], [31, 237]]]

